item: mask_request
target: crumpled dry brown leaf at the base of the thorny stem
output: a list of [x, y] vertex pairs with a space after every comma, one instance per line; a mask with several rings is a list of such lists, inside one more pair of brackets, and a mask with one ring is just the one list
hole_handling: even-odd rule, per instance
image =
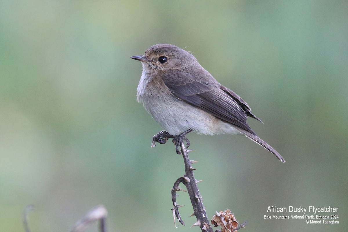
[[221, 226], [221, 232], [231, 232], [236, 229], [238, 222], [236, 221], [235, 215], [231, 213], [229, 209], [226, 211], [220, 211], [215, 213], [211, 223], [217, 227]]

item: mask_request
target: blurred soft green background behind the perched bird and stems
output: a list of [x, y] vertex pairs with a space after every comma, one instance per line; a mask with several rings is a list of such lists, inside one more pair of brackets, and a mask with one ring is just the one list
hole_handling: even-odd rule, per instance
[[[348, 1], [0, 1], [0, 231], [69, 231], [103, 204], [109, 231], [199, 231], [162, 128], [136, 102], [142, 55], [192, 51], [264, 124], [244, 136], [189, 134], [208, 217], [240, 231], [344, 231], [348, 207]], [[263, 219], [268, 206], [339, 207], [339, 225]], [[308, 209], [307, 209], [308, 210]], [[281, 215], [281, 214], [280, 214]], [[287, 213], [286, 215], [290, 215]], [[301, 215], [301, 214], [300, 214]], [[88, 231], [97, 231], [92, 226]]]

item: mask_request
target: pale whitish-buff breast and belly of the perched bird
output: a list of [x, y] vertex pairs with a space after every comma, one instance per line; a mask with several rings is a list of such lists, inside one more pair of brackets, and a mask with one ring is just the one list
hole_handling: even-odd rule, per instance
[[188, 129], [207, 135], [240, 134], [230, 123], [172, 95], [163, 80], [156, 75], [142, 73], [137, 101], [143, 102], [152, 118], [172, 135], [179, 135]]

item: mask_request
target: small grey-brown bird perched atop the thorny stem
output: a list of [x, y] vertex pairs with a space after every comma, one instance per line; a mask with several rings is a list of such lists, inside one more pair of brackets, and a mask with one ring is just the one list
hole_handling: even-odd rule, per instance
[[143, 56], [143, 72], [137, 88], [137, 101], [166, 131], [153, 137], [165, 143], [174, 138], [176, 151], [190, 131], [198, 134], [245, 135], [276, 157], [283, 157], [264, 142], [246, 123], [247, 116], [261, 122], [250, 107], [232, 90], [222, 86], [189, 52], [170, 44], [157, 44]]

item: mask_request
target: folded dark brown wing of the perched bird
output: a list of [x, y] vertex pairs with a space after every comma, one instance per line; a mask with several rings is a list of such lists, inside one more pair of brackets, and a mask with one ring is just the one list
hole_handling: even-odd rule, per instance
[[256, 135], [246, 123], [246, 116], [258, 118], [250, 113], [243, 99], [231, 90], [219, 86], [217, 82], [205, 79], [197, 81], [190, 73], [167, 71], [161, 73], [161, 77], [175, 97]]

